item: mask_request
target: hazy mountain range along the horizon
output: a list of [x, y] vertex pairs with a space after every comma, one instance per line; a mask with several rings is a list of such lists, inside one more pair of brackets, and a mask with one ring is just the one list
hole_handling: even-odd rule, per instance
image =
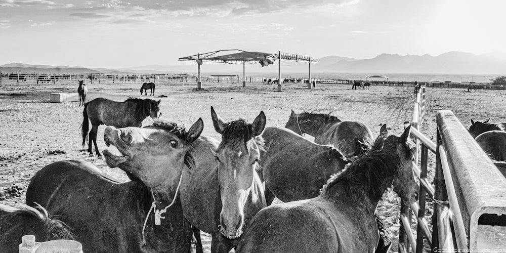
[[[441, 74], [504, 74], [506, 55], [498, 52], [476, 55], [464, 52], [448, 52], [438, 56], [381, 54], [371, 59], [354, 59], [341, 56], [326, 56], [311, 64], [311, 72], [332, 73], [441, 73]], [[10, 63], [0, 66], [2, 72], [19, 73], [195, 73], [197, 65], [192, 62], [178, 62], [178, 65], [145, 65], [119, 69], [87, 68], [50, 65]], [[246, 72], [277, 72], [278, 63], [261, 67], [247, 64]], [[282, 72], [308, 72], [307, 63], [282, 62]], [[241, 64], [204, 63], [202, 73], [241, 73]]]

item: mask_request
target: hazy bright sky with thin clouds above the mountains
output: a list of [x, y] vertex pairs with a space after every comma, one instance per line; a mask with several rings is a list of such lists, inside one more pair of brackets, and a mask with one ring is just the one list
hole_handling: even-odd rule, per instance
[[506, 1], [0, 0], [0, 65], [174, 65], [219, 49], [372, 58], [504, 51]]

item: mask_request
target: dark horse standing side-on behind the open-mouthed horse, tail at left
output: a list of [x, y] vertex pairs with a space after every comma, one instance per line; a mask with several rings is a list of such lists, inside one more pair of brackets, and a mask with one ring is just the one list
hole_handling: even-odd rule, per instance
[[[151, 116], [152, 119], [158, 118], [160, 111], [160, 100], [129, 98], [124, 102], [115, 102], [105, 98], [96, 98], [85, 104], [82, 110], [82, 147], [85, 147], [86, 137], [88, 137], [88, 152], [90, 156], [92, 152], [92, 142], [95, 144], [95, 152], [97, 156], [102, 156], [97, 146], [98, 126], [101, 124], [113, 125], [116, 128], [124, 128], [126, 126], [140, 127], [142, 121]], [[161, 114], [161, 113], [160, 113]], [[90, 130], [88, 119], [92, 123]], [[88, 134], [88, 132], [90, 132]]]

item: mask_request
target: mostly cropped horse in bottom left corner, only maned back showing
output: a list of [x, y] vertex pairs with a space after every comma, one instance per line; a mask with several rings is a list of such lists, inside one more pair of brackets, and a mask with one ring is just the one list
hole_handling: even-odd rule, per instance
[[18, 252], [24, 235], [34, 235], [38, 242], [74, 240], [69, 227], [38, 204], [36, 207], [0, 204], [0, 253]]

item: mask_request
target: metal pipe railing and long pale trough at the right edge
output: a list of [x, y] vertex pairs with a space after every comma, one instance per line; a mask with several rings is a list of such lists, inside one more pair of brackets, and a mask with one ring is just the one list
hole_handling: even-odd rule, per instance
[[[421, 87], [417, 94], [411, 121], [419, 201], [411, 206], [401, 203], [399, 252], [424, 252], [424, 239], [431, 251], [439, 252], [506, 249], [506, 179], [451, 111], [437, 112], [436, 143], [420, 133], [425, 90]], [[434, 188], [427, 180], [429, 150], [436, 154]], [[425, 218], [426, 195], [434, 203], [432, 231]], [[411, 231], [411, 211], [417, 217], [416, 238]], [[492, 226], [500, 226], [496, 228], [502, 229], [502, 236]]]

